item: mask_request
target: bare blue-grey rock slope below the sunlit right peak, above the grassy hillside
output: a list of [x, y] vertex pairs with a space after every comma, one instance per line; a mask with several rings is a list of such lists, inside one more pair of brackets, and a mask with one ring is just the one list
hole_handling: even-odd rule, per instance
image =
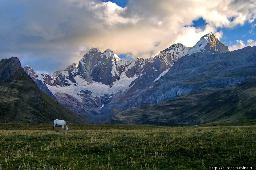
[[183, 94], [197, 93], [202, 89], [238, 85], [256, 77], [255, 54], [256, 47], [245, 47], [226, 53], [186, 55], [151, 87], [139, 95], [135, 94], [136, 98], [124, 98], [118, 107], [127, 109], [142, 103], [158, 103]]

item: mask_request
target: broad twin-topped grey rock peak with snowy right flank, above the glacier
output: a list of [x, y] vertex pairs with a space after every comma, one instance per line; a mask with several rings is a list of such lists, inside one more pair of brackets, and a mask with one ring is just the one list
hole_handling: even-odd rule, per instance
[[[112, 50], [107, 49], [101, 53], [99, 48], [91, 48], [79, 61], [77, 69], [73, 72], [73, 77], [79, 75], [88, 83], [92, 83], [93, 80], [111, 85], [120, 79], [119, 75], [124, 71], [125, 66], [126, 62]], [[71, 80], [73, 77], [69, 76], [68, 79]]]

